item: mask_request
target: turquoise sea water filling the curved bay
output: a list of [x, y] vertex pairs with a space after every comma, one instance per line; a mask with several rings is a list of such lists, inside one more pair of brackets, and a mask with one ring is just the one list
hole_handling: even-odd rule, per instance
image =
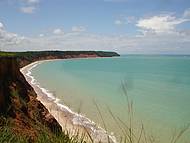
[[[108, 112], [129, 122], [126, 96], [133, 101], [136, 131], [143, 122], [147, 134], [169, 142], [174, 131], [190, 123], [190, 57], [123, 56], [44, 62], [32, 70], [41, 86], [55, 93], [63, 104], [81, 112], [116, 136], [121, 130]], [[186, 132], [181, 143], [190, 140]]]

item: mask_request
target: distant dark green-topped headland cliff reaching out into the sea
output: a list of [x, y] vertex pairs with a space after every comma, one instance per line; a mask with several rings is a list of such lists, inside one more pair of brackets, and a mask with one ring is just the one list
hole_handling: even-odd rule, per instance
[[105, 51], [35, 51], [35, 52], [0, 52], [0, 56], [16, 57], [19, 66], [23, 67], [31, 62], [48, 59], [92, 58], [120, 56], [116, 52]]

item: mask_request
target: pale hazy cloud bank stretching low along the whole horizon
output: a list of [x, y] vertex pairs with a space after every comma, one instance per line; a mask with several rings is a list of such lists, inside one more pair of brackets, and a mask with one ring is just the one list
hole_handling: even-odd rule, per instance
[[[1, 42], [2, 43], [2, 42]], [[151, 34], [144, 36], [108, 36], [70, 32], [27, 38], [1, 49], [24, 50], [106, 50], [127, 54], [190, 54], [190, 33]]]

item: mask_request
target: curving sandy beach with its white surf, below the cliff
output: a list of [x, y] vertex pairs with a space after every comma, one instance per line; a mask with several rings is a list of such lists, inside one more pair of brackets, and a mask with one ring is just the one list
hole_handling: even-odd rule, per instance
[[[55, 60], [65, 60], [65, 59], [51, 59], [51, 60], [41, 60], [33, 62], [20, 69], [21, 73], [26, 78], [26, 81], [34, 88], [37, 94], [37, 99], [48, 109], [51, 115], [58, 121], [61, 125], [63, 131], [68, 131], [69, 135], [84, 134], [88, 135], [87, 140], [90, 138], [96, 142], [116, 142], [114, 135], [109, 135], [103, 128], [97, 126], [95, 122], [88, 119], [84, 115], [73, 112], [69, 107], [59, 103], [59, 99], [56, 98], [49, 90], [40, 86], [40, 83], [32, 76], [31, 70], [44, 62], [51, 62]], [[67, 60], [67, 59], [66, 59]], [[89, 137], [90, 135], [90, 137]]]

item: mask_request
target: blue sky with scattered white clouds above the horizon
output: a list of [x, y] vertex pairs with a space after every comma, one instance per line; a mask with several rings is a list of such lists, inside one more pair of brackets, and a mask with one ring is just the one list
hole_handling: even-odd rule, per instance
[[190, 54], [190, 0], [0, 0], [0, 50]]

